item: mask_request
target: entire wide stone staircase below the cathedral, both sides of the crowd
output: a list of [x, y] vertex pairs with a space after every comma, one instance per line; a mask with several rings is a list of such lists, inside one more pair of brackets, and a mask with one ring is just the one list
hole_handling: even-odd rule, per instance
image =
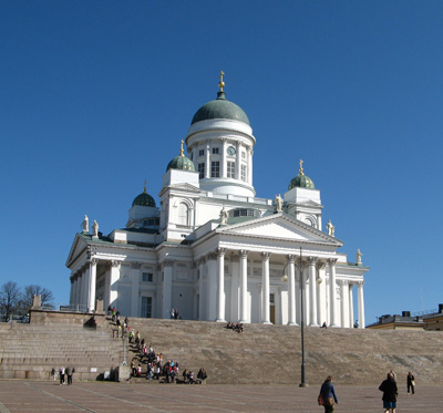
[[[130, 326], [164, 361], [178, 361], [179, 375], [204, 368], [208, 383], [300, 382], [300, 327], [246, 324], [237, 333], [205, 321], [130, 319]], [[96, 380], [123, 360], [122, 339], [112, 329], [112, 323], [97, 329], [0, 323], [0, 378], [49, 379], [52, 368], [73, 365], [74, 380]], [[332, 374], [337, 383], [379, 384], [394, 369], [399, 380], [412, 371], [418, 382], [443, 383], [442, 349], [440, 331], [306, 327], [306, 381], [318, 384]], [[137, 354], [128, 350], [127, 363]]]

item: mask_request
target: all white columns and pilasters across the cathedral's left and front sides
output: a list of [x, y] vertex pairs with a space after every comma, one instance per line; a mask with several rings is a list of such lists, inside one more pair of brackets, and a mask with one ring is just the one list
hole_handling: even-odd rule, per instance
[[[198, 314], [199, 319], [226, 321], [226, 297], [231, 298], [231, 308], [238, 314], [238, 321], [250, 321], [250, 306], [248, 300], [248, 250], [237, 250], [236, 255], [230, 255], [230, 265], [238, 273], [238, 286], [231, 286], [230, 291], [225, 291], [225, 256], [226, 248], [217, 248], [215, 252], [202, 257], [195, 262], [199, 278], [195, 288], [199, 291]], [[262, 251], [261, 258], [261, 296], [259, 322], [269, 324], [270, 320], [270, 257], [271, 254]], [[257, 257], [255, 252], [254, 257]], [[121, 261], [106, 260], [110, 265], [109, 275], [105, 278], [104, 302], [105, 306], [116, 302], [119, 291], [116, 283], [121, 277]], [[95, 308], [96, 296], [96, 272], [99, 259], [91, 257], [85, 265], [71, 277], [70, 302], [86, 307], [92, 312]], [[329, 277], [324, 268], [328, 266]], [[303, 287], [303, 314], [305, 322], [308, 326], [320, 326], [328, 320], [331, 327], [351, 328], [353, 324], [353, 286], [358, 286], [358, 319], [359, 327], [364, 328], [364, 301], [363, 301], [363, 281], [350, 281], [349, 279], [337, 279], [336, 275], [337, 259], [320, 259], [318, 257], [303, 257], [287, 255], [285, 268], [287, 268], [287, 306], [282, 311], [287, 312], [287, 323], [298, 326], [301, 307], [301, 286]], [[158, 308], [159, 317], [168, 318], [173, 306], [172, 290], [174, 276], [174, 261], [165, 260], [161, 265], [162, 280], [159, 282], [159, 292], [162, 302]], [[206, 275], [206, 282], [204, 275]], [[131, 267], [131, 314], [138, 314], [138, 293], [141, 281], [141, 264], [133, 262]], [[328, 287], [320, 289], [320, 283], [324, 282]], [[286, 290], [286, 289], [285, 289]], [[250, 293], [250, 291], [249, 291]], [[340, 307], [338, 306], [338, 295]], [[233, 303], [235, 302], [235, 303]], [[324, 312], [326, 311], [326, 312]], [[236, 321], [236, 320], [234, 320]]]

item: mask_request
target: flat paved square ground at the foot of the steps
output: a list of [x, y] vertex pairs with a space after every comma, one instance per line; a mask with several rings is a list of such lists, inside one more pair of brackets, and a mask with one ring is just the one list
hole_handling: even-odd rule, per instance
[[[184, 385], [158, 383], [0, 381], [4, 412], [323, 412], [318, 385]], [[336, 384], [340, 412], [383, 412], [378, 386]], [[398, 413], [443, 412], [443, 385], [400, 389]]]

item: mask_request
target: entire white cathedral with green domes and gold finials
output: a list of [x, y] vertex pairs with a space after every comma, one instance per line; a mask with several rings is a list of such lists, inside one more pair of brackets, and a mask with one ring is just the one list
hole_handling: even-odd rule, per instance
[[188, 157], [182, 141], [167, 165], [159, 206], [145, 184], [125, 228], [104, 236], [84, 217], [66, 260], [70, 303], [93, 312], [103, 300], [128, 317], [169, 318], [174, 308], [184, 320], [352, 328], [358, 319], [364, 328], [360, 250], [348, 261], [331, 223], [322, 230], [320, 190], [301, 161], [282, 197], [256, 197], [253, 128], [226, 100], [223, 74], [218, 86], [190, 123]]

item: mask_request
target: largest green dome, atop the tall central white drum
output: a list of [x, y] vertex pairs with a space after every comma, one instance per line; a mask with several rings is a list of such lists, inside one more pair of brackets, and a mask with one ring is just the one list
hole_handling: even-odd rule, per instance
[[215, 101], [206, 103], [196, 112], [190, 124], [194, 125], [194, 123], [212, 118], [228, 118], [246, 123], [250, 126], [248, 116], [243, 109], [227, 101], [225, 92], [222, 91], [217, 93]]

